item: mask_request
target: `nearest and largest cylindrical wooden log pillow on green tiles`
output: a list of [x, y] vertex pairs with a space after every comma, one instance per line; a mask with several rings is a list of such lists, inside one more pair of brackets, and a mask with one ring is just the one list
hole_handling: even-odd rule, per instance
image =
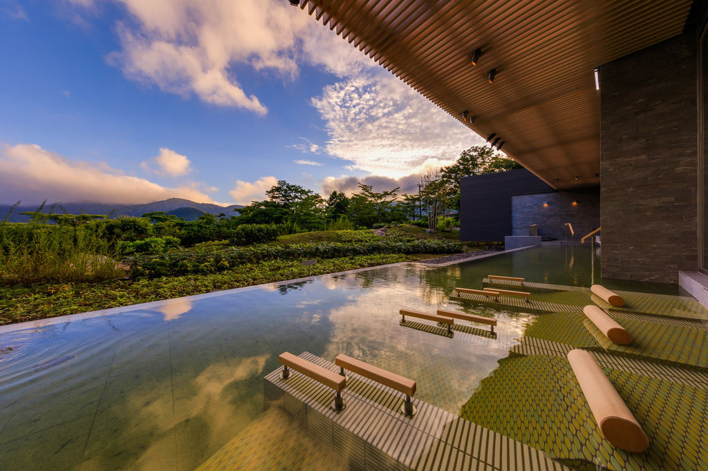
[[568, 361], [583, 390], [600, 432], [607, 441], [632, 453], [641, 453], [649, 447], [649, 438], [641, 429], [632, 412], [619, 397], [593, 355], [585, 350], [571, 350]]

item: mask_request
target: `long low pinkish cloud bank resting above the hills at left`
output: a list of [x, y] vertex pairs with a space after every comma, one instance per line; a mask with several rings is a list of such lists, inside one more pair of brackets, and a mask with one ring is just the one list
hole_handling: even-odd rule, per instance
[[73, 161], [36, 144], [4, 145], [0, 153], [0, 199], [6, 201], [138, 204], [173, 197], [213, 202], [195, 186], [162, 187], [105, 163]]

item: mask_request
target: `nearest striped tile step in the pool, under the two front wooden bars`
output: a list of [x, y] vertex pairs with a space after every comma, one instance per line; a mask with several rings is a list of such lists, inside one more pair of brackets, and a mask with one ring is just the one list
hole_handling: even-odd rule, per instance
[[[302, 358], [338, 371], [333, 363], [304, 352]], [[549, 455], [455, 414], [413, 399], [418, 413], [399, 412], [402, 397], [390, 388], [349, 373], [342, 395], [346, 409], [329, 407], [329, 388], [299, 373], [265, 376], [265, 407], [278, 405], [333, 449], [351, 469], [565, 470]]]

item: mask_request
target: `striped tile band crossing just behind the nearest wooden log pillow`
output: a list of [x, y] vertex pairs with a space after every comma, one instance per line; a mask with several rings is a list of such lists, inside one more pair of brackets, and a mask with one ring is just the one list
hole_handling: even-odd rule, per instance
[[[550, 342], [549, 340], [536, 339], [534, 337], [523, 337], [520, 344], [511, 348], [513, 353], [528, 355], [550, 355], [566, 358], [568, 352], [575, 349], [569, 344]], [[591, 350], [593, 356], [603, 368], [614, 368], [616, 370], [636, 373], [650, 378], [658, 378], [680, 383], [694, 388], [708, 389], [708, 371], [704, 368], [692, 368], [687, 366], [673, 366], [658, 361], [632, 358], [631, 356], [614, 354], [612, 352]]]

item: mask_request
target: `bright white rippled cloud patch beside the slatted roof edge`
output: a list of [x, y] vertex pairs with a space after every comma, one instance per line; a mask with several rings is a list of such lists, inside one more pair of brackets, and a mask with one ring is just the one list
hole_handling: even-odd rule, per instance
[[326, 122], [326, 151], [351, 161], [348, 170], [401, 178], [449, 165], [462, 150], [484, 142], [385, 72], [326, 86], [312, 105]]

